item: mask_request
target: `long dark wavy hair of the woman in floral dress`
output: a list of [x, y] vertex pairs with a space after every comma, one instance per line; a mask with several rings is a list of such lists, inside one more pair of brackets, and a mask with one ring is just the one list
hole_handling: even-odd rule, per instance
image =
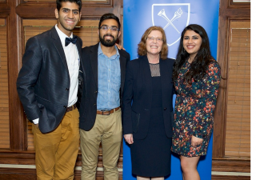
[[191, 84], [192, 78], [194, 79], [194, 81], [197, 81], [204, 77], [204, 75], [206, 74], [206, 70], [208, 69], [209, 63], [212, 62], [214, 58], [210, 54], [210, 43], [208, 35], [206, 34], [206, 30], [203, 29], [202, 26], [199, 26], [197, 24], [190, 24], [189, 26], [186, 26], [186, 28], [182, 31], [182, 37], [178, 46], [178, 54], [174, 63], [173, 80], [175, 81], [178, 79], [179, 70], [182, 68], [183, 64], [186, 63], [186, 60], [190, 57], [190, 54], [188, 54], [183, 47], [183, 38], [186, 30], [193, 30], [202, 38], [200, 50], [198, 50], [198, 53], [194, 57], [193, 62], [191, 62], [190, 70], [185, 74], [184, 77], [185, 81]]

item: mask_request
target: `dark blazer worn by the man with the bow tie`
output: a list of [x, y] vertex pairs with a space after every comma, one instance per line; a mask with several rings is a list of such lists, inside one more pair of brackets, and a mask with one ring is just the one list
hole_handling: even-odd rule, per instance
[[[81, 59], [82, 40], [76, 42]], [[53, 27], [26, 42], [17, 90], [27, 118], [39, 118], [42, 133], [54, 130], [66, 113], [70, 75], [62, 42]]]

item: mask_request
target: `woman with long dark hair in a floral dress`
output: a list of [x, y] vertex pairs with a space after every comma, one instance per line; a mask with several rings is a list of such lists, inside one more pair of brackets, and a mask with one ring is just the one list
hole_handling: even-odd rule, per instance
[[173, 72], [177, 98], [171, 150], [180, 155], [183, 178], [199, 180], [198, 160], [206, 155], [213, 131], [221, 79], [202, 26], [191, 24], [182, 31]]

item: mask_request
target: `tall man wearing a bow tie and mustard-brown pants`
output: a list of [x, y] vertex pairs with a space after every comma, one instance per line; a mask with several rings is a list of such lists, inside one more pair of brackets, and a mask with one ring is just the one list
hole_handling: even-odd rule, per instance
[[26, 42], [17, 90], [32, 122], [38, 179], [73, 179], [79, 146], [78, 70], [82, 40], [72, 34], [80, 0], [58, 0], [51, 30]]

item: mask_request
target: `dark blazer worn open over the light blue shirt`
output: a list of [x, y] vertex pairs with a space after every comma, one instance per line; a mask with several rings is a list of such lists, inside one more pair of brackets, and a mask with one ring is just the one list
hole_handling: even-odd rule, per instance
[[[126, 75], [126, 63], [130, 61], [130, 54], [125, 50], [118, 50], [120, 54], [121, 66], [121, 88], [120, 105], [122, 105], [122, 92]], [[80, 122], [82, 130], [90, 130], [94, 126], [97, 113], [98, 96], [98, 44], [84, 47], [82, 49], [82, 66], [80, 66], [82, 75], [82, 98], [80, 100]]]

